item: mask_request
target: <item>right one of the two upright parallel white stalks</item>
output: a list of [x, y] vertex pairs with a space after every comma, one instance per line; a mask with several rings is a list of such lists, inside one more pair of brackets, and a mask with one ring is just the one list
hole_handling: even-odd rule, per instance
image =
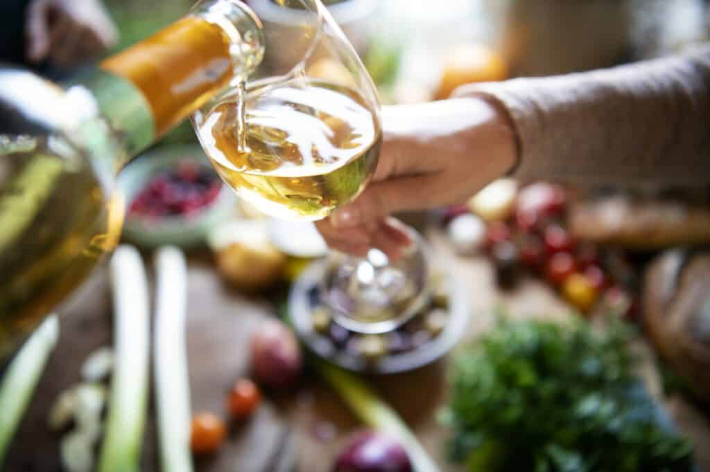
[[190, 379], [187, 375], [185, 256], [175, 247], [155, 255], [155, 408], [165, 472], [191, 472]]

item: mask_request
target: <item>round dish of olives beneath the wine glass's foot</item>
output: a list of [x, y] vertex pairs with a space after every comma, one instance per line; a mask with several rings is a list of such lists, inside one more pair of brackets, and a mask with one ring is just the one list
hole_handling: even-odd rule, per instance
[[[327, 276], [324, 260], [313, 262], [293, 283], [288, 299], [288, 315], [299, 339], [321, 358], [344, 369], [363, 373], [397, 373], [430, 364], [449, 352], [469, 325], [471, 300], [468, 286], [451, 274], [442, 276], [447, 287], [444, 304], [430, 299], [420, 312], [390, 332], [368, 335], [353, 332], [331, 318], [323, 325], [322, 280]], [[436, 290], [435, 290], [436, 291]], [[445, 307], [441, 305], [446, 305]], [[427, 321], [442, 317], [440, 330], [431, 331]], [[398, 339], [408, 346], [396, 346]], [[386, 344], [384, 352], [367, 352], [364, 344]], [[406, 344], [406, 343], [405, 343]]]

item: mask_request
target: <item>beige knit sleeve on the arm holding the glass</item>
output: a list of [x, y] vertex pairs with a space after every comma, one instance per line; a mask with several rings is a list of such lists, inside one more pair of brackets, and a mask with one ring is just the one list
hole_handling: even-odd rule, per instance
[[579, 184], [710, 184], [710, 47], [559, 77], [471, 84], [510, 113], [515, 175]]

